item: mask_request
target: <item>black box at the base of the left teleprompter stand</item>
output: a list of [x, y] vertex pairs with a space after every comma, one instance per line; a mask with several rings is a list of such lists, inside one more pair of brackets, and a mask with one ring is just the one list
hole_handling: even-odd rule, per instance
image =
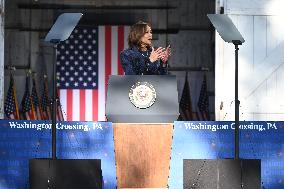
[[101, 189], [100, 159], [31, 159], [30, 189]]

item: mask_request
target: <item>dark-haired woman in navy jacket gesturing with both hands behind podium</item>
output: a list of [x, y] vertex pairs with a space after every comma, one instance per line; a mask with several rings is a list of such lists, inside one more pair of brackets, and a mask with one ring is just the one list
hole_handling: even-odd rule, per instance
[[120, 53], [125, 75], [165, 75], [171, 55], [167, 48], [152, 46], [152, 30], [148, 23], [132, 25], [128, 35], [129, 48]]

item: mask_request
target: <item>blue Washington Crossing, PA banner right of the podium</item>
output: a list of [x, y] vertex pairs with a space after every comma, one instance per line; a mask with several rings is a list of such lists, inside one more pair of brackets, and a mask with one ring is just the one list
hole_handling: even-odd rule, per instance
[[[240, 122], [240, 158], [261, 159], [263, 189], [284, 188], [284, 122]], [[233, 122], [175, 122], [170, 188], [183, 188], [183, 159], [234, 158]]]

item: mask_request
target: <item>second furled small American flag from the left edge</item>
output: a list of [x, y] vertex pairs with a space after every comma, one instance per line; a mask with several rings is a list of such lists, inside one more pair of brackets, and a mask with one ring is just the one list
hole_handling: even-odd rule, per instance
[[35, 111], [31, 100], [30, 95], [30, 80], [29, 76], [26, 77], [26, 88], [25, 93], [21, 102], [21, 108], [22, 108], [22, 116], [25, 120], [35, 120]]

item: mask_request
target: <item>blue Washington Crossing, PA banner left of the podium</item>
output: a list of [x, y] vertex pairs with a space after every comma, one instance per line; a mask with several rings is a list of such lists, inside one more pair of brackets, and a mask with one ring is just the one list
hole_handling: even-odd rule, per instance
[[[51, 123], [0, 121], [0, 188], [28, 188], [28, 160], [51, 158]], [[58, 159], [101, 159], [104, 189], [116, 188], [113, 130], [109, 122], [59, 122]]]

